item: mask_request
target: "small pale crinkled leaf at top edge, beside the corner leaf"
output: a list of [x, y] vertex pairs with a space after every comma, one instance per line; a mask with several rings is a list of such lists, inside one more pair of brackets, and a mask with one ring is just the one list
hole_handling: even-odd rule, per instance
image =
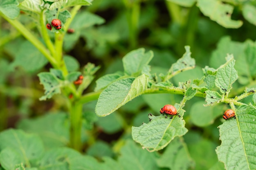
[[19, 7], [23, 11], [31, 11], [40, 14], [43, 10], [43, 0], [24, 0], [20, 3]]

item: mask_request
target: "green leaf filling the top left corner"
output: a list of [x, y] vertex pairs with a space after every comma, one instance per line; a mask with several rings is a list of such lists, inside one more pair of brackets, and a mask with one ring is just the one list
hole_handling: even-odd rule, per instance
[[17, 0], [1, 0], [0, 12], [10, 19], [15, 19], [20, 14], [20, 9], [17, 7], [19, 2]]

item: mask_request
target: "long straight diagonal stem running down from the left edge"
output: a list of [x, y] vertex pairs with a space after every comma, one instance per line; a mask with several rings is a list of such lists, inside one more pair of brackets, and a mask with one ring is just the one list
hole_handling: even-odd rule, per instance
[[7, 20], [14, 28], [16, 28], [28, 41], [31, 42], [44, 56], [45, 58], [55, 67], [57, 67], [56, 60], [49, 53], [47, 48], [39, 41], [32, 33], [29, 31], [23, 24], [21, 24], [18, 20], [11, 20], [2, 13], [0, 15]]

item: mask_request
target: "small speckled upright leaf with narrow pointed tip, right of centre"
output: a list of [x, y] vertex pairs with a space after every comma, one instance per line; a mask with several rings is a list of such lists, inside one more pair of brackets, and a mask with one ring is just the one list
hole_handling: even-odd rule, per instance
[[168, 74], [166, 75], [166, 80], [170, 79], [177, 73], [195, 68], [195, 59], [191, 58], [190, 46], [185, 46], [185, 50], [186, 52], [183, 56], [178, 59], [176, 63], [172, 64]]

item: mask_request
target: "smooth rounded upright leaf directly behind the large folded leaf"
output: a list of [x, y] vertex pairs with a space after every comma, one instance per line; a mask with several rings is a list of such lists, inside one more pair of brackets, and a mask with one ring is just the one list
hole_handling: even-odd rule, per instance
[[149, 51], [145, 53], [144, 48], [133, 50], [126, 54], [122, 59], [124, 65], [124, 72], [128, 75], [139, 75], [143, 68], [153, 58], [153, 52]]

